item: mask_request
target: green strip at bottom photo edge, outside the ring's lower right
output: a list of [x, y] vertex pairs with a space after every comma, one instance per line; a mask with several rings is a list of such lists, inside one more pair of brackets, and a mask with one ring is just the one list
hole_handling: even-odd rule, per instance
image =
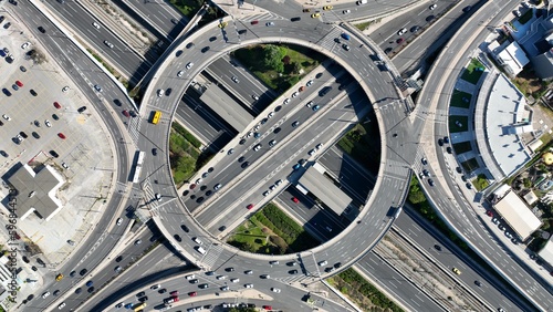
[[351, 268], [327, 281], [353, 300], [363, 311], [404, 311]]

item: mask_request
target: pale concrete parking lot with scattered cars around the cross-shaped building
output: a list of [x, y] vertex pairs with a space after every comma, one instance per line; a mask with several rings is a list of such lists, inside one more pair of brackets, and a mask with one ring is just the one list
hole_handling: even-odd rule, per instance
[[[103, 211], [114, 171], [111, 138], [63, 69], [27, 37], [30, 31], [22, 29], [24, 24], [9, 12], [0, 15], [4, 15], [0, 23], [0, 136], [4, 138], [0, 142], [0, 197], [8, 195], [6, 174], [18, 163], [48, 164], [64, 177], [66, 183], [56, 194], [63, 205], [58, 215], [45, 221], [31, 214], [18, 222], [22, 241], [25, 237], [33, 241], [44, 252], [41, 258], [46, 268], [53, 269], [79, 248]], [[10, 27], [4, 28], [8, 22]], [[31, 60], [27, 54], [32, 49], [42, 51], [45, 62]], [[0, 210], [6, 223], [8, 211]], [[39, 268], [39, 273], [49, 273], [46, 268]]]

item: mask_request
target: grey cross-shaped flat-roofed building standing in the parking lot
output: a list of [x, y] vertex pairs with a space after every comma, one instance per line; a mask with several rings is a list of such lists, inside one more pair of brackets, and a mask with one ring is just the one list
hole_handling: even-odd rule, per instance
[[35, 212], [49, 221], [62, 208], [56, 193], [65, 180], [49, 165], [41, 166], [35, 173], [29, 165], [23, 164], [8, 181], [17, 190], [14, 208], [21, 220]]

